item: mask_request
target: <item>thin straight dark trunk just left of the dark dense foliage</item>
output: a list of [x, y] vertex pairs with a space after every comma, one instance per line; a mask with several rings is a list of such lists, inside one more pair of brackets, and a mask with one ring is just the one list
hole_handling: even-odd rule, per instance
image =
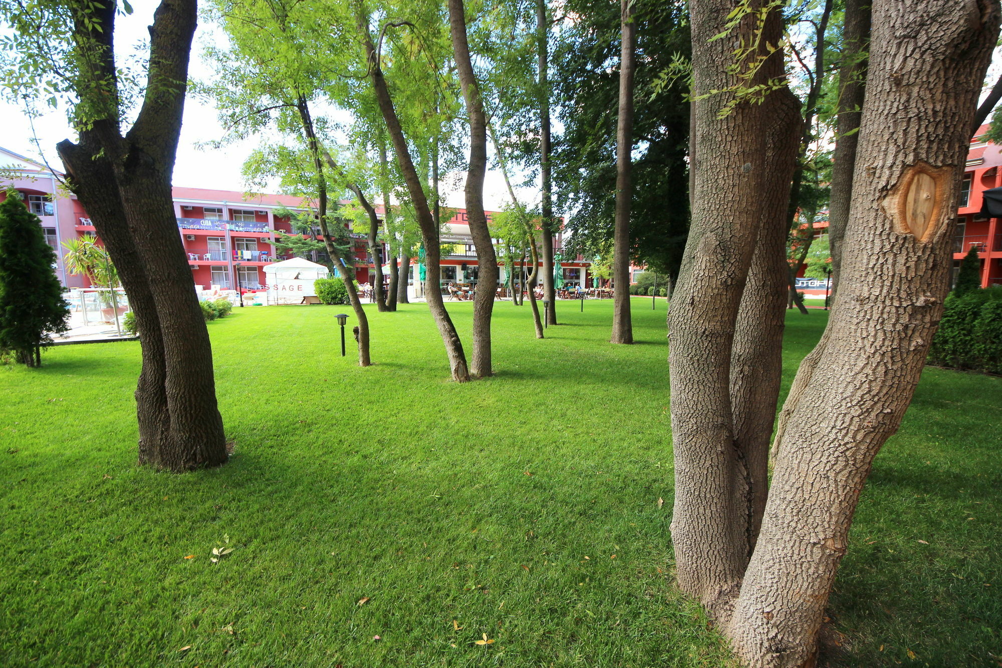
[[536, 0], [536, 50], [539, 59], [539, 175], [542, 187], [543, 218], [543, 299], [550, 303], [546, 322], [557, 324], [557, 300], [553, 289], [553, 178], [550, 165], [550, 22], [546, 0]]

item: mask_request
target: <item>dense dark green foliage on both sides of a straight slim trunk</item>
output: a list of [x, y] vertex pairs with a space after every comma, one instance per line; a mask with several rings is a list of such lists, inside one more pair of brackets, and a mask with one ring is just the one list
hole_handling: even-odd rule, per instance
[[[612, 238], [615, 220], [616, 113], [619, 98], [619, 3], [568, 0], [576, 18], [560, 31], [553, 63], [554, 96], [563, 134], [555, 143], [553, 178], [563, 211], [573, 214], [574, 250], [585, 256]], [[638, 0], [633, 121], [631, 257], [674, 275], [688, 235], [688, 92], [663, 73], [687, 59], [684, 5]], [[611, 112], [610, 112], [611, 110]]]

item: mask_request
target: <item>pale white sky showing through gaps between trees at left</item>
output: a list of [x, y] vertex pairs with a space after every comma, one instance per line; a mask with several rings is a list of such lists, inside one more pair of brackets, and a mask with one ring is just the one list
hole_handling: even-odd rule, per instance
[[[134, 12], [130, 16], [115, 19], [115, 50], [119, 58], [123, 49], [134, 51], [137, 44], [148, 39], [146, 26], [152, 23], [156, 4], [153, 0], [133, 1]], [[199, 22], [189, 66], [191, 78], [206, 80], [211, 77], [211, 68], [202, 59], [201, 51], [205, 44], [218, 39], [218, 31]], [[30, 118], [23, 106], [4, 99], [0, 99], [0, 146], [27, 157], [40, 157], [56, 171], [62, 169], [55, 150], [56, 143], [65, 138], [74, 138], [66, 121], [65, 110], [59, 109]], [[205, 101], [189, 95], [184, 102], [184, 117], [174, 166], [174, 186], [241, 192], [246, 190], [240, 168], [243, 160], [260, 145], [261, 139], [250, 137], [221, 148], [199, 147], [202, 142], [215, 140], [223, 135], [224, 130], [215, 109]], [[490, 147], [488, 149], [491, 150]], [[463, 208], [463, 175], [443, 175], [442, 192], [447, 207]], [[516, 194], [523, 204], [532, 205], [539, 199], [538, 189], [516, 189]], [[484, 207], [489, 211], [500, 211], [507, 202], [510, 202], [510, 198], [500, 171], [488, 171], [484, 184]]]

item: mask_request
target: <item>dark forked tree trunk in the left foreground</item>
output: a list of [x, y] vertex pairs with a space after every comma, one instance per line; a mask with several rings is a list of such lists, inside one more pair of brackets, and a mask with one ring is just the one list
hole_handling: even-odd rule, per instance
[[163, 0], [156, 9], [146, 92], [125, 136], [117, 108], [115, 7], [74, 3], [70, 9], [75, 47], [89, 52], [81, 58], [84, 89], [78, 90], [89, 125], [81, 132], [81, 144], [63, 141], [59, 152], [81, 203], [87, 206], [86, 198], [94, 206], [88, 213], [111, 238], [112, 261], [126, 268], [123, 285], [135, 291], [130, 299], [138, 305], [143, 340], [136, 389], [139, 462], [173, 471], [221, 464], [226, 448], [211, 344], [177, 234], [171, 193], [195, 2]]

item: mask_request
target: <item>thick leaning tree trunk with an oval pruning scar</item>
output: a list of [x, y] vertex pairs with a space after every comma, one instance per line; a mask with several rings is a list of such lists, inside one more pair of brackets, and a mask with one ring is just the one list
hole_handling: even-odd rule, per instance
[[942, 314], [959, 176], [998, 25], [988, 0], [873, 3], [839, 304], [777, 435], [773, 486], [728, 628], [745, 665], [814, 661], [864, 481], [911, 401]]

